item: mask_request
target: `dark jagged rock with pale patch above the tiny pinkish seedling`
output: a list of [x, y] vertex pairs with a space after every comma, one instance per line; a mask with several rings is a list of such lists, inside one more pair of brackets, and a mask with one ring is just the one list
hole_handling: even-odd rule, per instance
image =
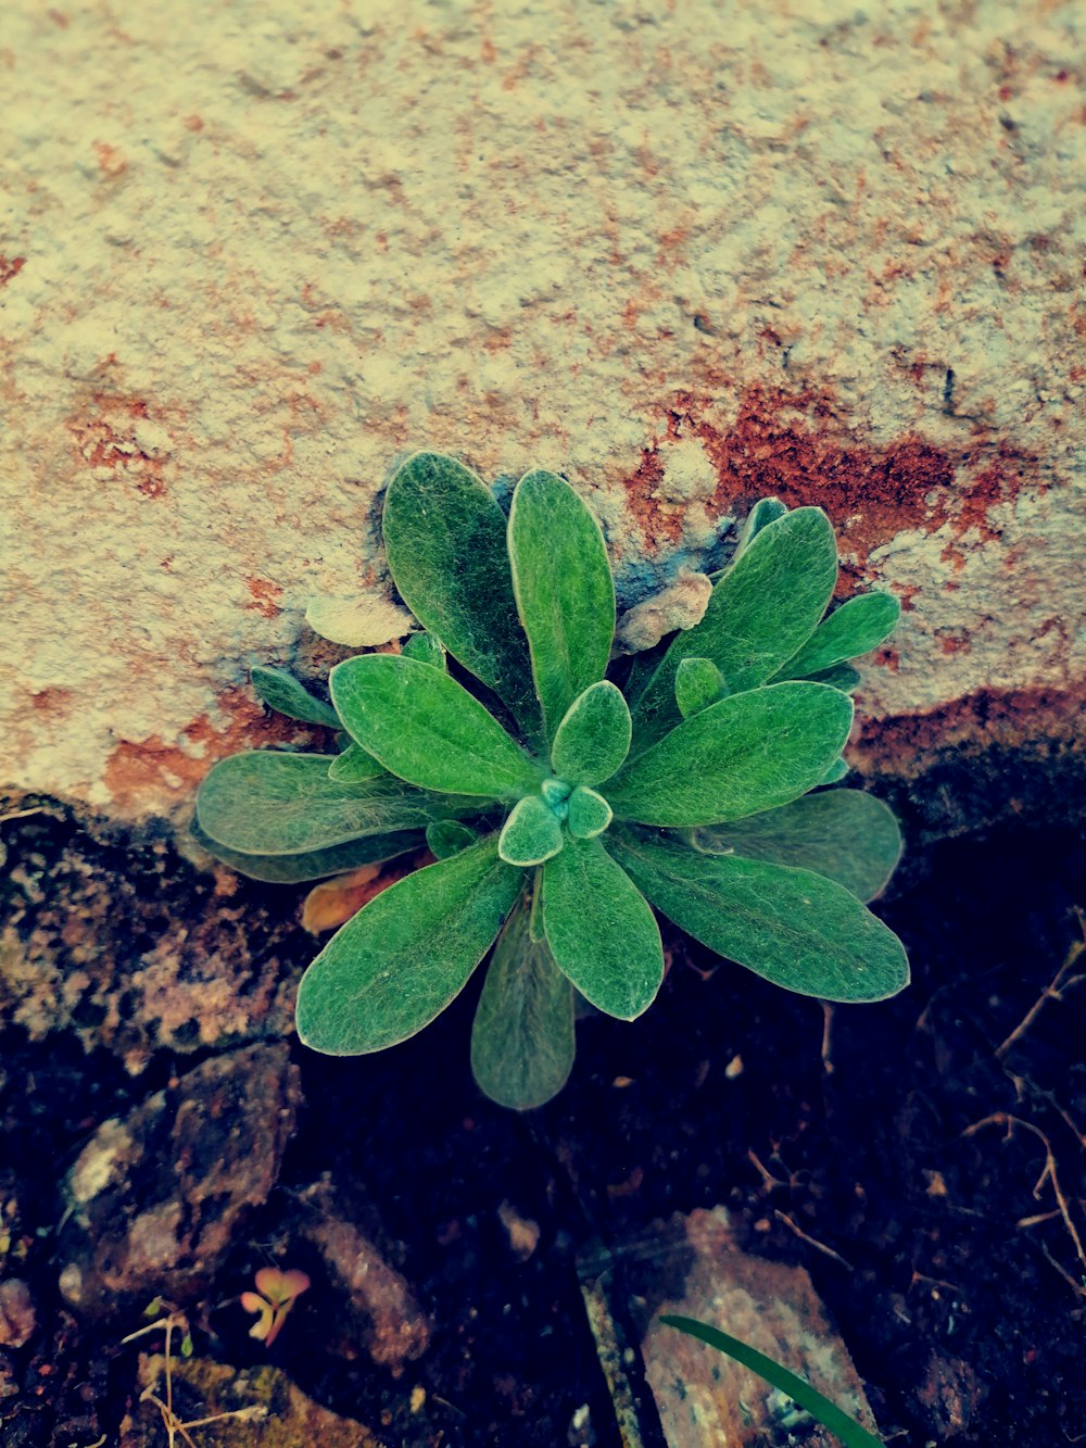
[[206, 1287], [274, 1187], [298, 1105], [284, 1045], [213, 1057], [101, 1124], [67, 1177], [59, 1287], [91, 1318]]

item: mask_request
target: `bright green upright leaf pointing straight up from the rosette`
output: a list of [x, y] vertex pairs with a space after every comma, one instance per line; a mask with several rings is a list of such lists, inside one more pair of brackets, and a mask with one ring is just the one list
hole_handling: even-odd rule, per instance
[[614, 639], [614, 584], [599, 524], [553, 472], [517, 484], [508, 523], [513, 589], [529, 636], [547, 737], [589, 683]]

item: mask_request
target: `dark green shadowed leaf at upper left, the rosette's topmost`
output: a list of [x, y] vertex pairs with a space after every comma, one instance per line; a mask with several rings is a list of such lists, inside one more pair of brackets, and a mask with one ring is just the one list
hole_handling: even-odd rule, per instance
[[388, 485], [384, 534], [395, 586], [416, 618], [542, 740], [505, 514], [489, 488], [455, 458], [416, 453]]

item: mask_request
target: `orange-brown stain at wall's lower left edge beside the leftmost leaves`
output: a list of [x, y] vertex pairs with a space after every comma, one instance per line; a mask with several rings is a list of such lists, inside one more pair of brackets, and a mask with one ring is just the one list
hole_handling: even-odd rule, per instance
[[229, 715], [224, 728], [216, 728], [207, 714], [201, 714], [184, 730], [190, 746], [204, 746], [200, 759], [177, 744], [167, 744], [158, 734], [117, 744], [106, 762], [103, 782], [120, 812], [145, 808], [149, 796], [178, 801], [190, 796], [211, 765], [226, 754], [314, 736], [323, 740], [327, 734], [266, 712], [249, 689], [227, 689], [219, 695], [219, 704]]

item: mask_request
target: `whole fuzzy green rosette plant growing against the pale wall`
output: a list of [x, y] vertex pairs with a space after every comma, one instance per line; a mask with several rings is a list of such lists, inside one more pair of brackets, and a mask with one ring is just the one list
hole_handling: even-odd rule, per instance
[[[901, 990], [898, 938], [864, 902], [896, 822], [844, 773], [859, 678], [893, 627], [886, 594], [822, 617], [837, 581], [820, 508], [757, 504], [702, 621], [605, 678], [615, 605], [595, 518], [530, 472], [508, 520], [459, 462], [418, 453], [384, 504], [388, 563], [423, 626], [401, 654], [330, 675], [332, 707], [255, 670], [277, 708], [337, 724], [336, 754], [256, 752], [203, 783], [198, 834], [268, 880], [316, 879], [429, 844], [306, 972], [301, 1040], [361, 1054], [407, 1040], [497, 940], [472, 1032], [482, 1089], [537, 1106], [573, 1061], [581, 992], [631, 1021], [663, 979], [652, 906], [791, 990]], [[621, 665], [615, 678], [621, 676]]]

